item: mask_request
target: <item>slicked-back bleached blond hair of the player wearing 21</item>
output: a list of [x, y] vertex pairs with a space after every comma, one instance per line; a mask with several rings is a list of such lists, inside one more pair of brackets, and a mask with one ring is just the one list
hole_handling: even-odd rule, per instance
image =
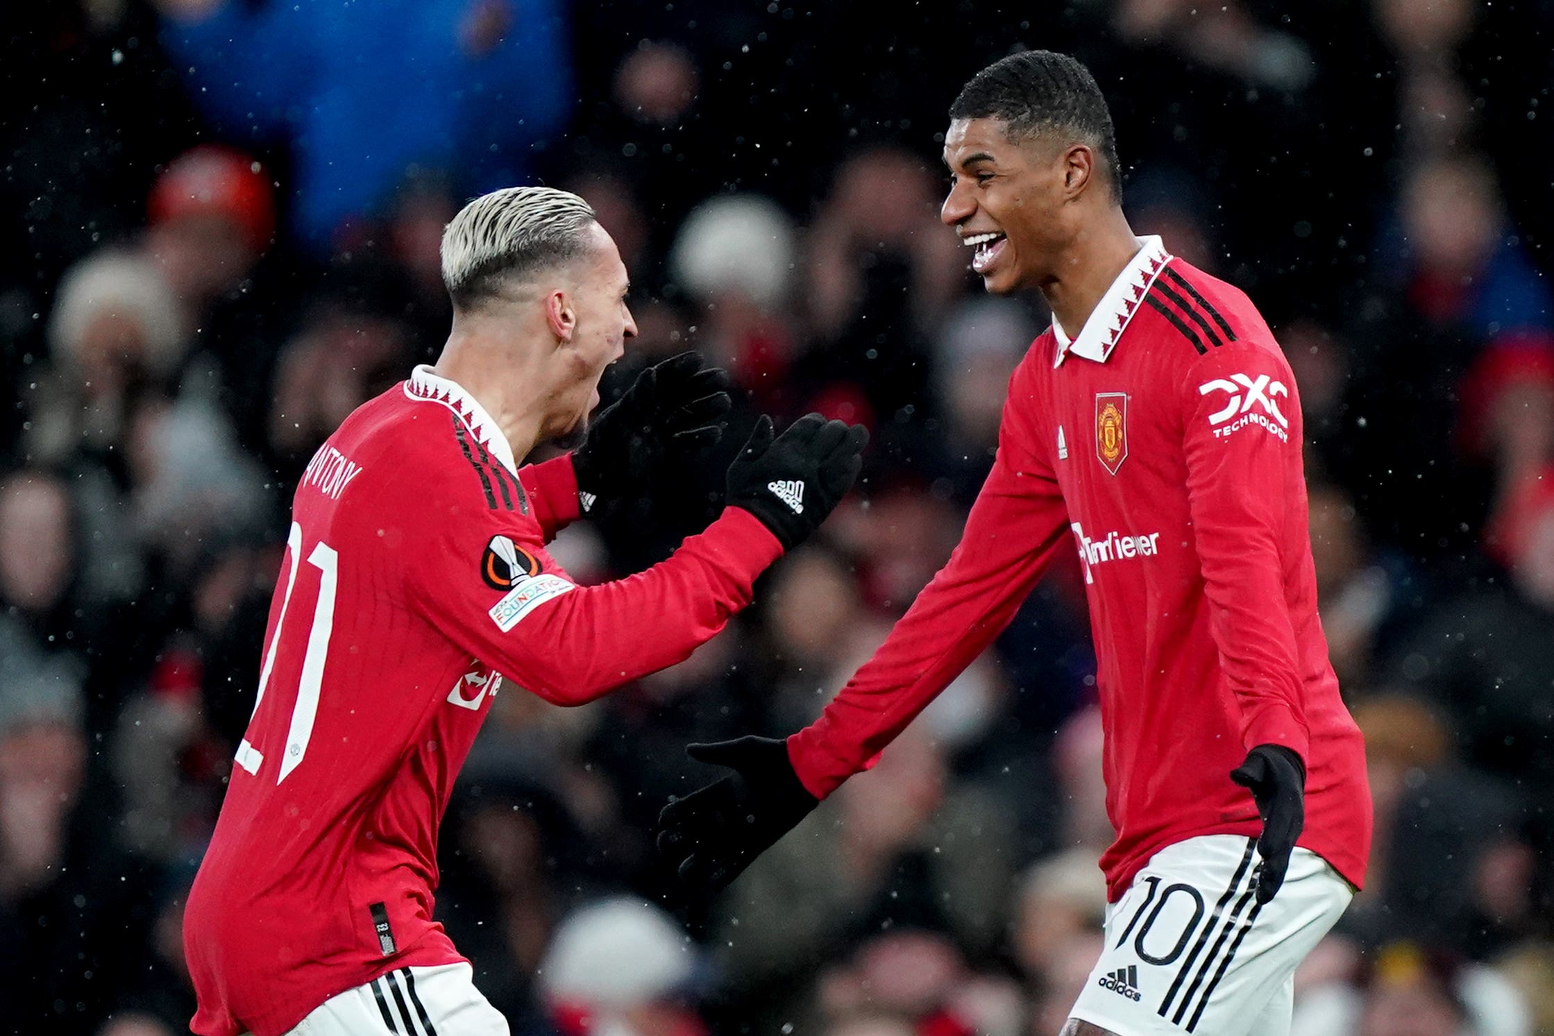
[[443, 286], [454, 306], [479, 306], [503, 281], [581, 255], [584, 233], [595, 222], [587, 202], [552, 186], [508, 186], [482, 194], [443, 230]]

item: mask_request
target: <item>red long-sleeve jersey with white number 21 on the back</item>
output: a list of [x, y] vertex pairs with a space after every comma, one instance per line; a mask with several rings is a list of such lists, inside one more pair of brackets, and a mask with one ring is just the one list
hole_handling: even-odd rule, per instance
[[685, 659], [782, 551], [727, 509], [665, 562], [578, 587], [544, 545], [570, 458], [524, 468], [429, 368], [308, 464], [258, 702], [190, 892], [205, 1036], [280, 1036], [331, 996], [462, 960], [432, 920], [437, 828], [496, 694], [577, 705]]

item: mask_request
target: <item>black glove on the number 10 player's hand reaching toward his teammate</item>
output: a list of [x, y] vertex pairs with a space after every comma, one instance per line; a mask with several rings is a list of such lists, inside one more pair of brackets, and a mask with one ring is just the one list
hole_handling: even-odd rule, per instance
[[786, 741], [744, 736], [693, 744], [685, 753], [733, 770], [659, 814], [659, 851], [681, 881], [702, 892], [738, 878], [821, 801], [793, 772]]

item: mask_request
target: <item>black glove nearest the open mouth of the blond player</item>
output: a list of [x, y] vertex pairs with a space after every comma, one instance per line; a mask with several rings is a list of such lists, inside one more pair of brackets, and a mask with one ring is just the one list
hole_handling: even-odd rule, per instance
[[712, 446], [723, 436], [723, 415], [733, 405], [721, 368], [702, 368], [681, 353], [637, 374], [615, 402], [589, 422], [572, 454], [583, 509], [595, 500], [640, 495], [671, 458]]

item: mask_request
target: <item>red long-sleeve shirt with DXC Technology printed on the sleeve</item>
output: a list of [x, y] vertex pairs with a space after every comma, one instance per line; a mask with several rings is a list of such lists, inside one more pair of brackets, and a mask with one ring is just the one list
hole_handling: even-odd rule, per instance
[[960, 545], [813, 725], [788, 741], [828, 795], [976, 659], [1060, 550], [1078, 550], [1099, 659], [1117, 899], [1158, 850], [1262, 829], [1229, 780], [1246, 750], [1307, 766], [1299, 845], [1355, 885], [1371, 847], [1364, 749], [1316, 615], [1301, 405], [1235, 287], [1158, 238], [1078, 337], [1038, 337]]

